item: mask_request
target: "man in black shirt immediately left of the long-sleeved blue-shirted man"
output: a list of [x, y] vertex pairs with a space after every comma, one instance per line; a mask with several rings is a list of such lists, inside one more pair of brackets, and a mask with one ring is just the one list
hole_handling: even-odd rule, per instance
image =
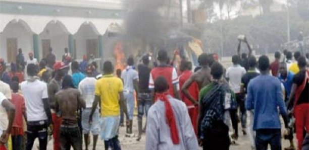
[[[240, 85], [240, 94], [245, 97], [246, 93], [247, 93], [247, 86], [250, 82], [251, 79], [257, 77], [260, 75], [260, 73], [257, 72], [256, 70], [256, 58], [254, 56], [250, 56], [248, 58], [248, 65], [249, 65], [249, 69], [248, 71], [241, 77], [241, 85]], [[249, 122], [248, 122], [248, 135], [249, 135], [249, 139], [250, 139], [250, 144], [251, 144], [251, 148], [254, 149], [255, 148], [255, 137], [254, 137], [254, 132], [253, 132], [253, 111], [248, 111], [248, 118], [249, 118]], [[243, 129], [243, 132], [245, 133], [246, 131]]]

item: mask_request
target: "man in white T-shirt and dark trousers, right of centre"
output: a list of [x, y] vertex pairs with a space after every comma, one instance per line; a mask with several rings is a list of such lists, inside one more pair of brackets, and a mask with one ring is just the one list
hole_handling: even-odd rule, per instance
[[[246, 134], [246, 109], [244, 107], [244, 98], [240, 93], [241, 77], [246, 73], [246, 69], [240, 65], [240, 58], [237, 55], [232, 57], [233, 66], [229, 67], [226, 71], [226, 79], [229, 82], [231, 90], [236, 95], [236, 101], [240, 107], [241, 112], [241, 126], [243, 134]], [[231, 117], [235, 115], [235, 112], [231, 112]], [[237, 114], [237, 110], [236, 110]], [[238, 137], [238, 128], [234, 127], [236, 139]]]

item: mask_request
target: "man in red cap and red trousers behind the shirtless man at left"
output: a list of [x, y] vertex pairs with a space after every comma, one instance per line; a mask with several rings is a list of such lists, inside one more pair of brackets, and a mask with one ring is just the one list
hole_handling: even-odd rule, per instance
[[62, 61], [58, 61], [54, 64], [54, 70], [56, 72], [55, 77], [49, 82], [48, 84], [48, 98], [49, 98], [49, 105], [50, 109], [52, 111], [52, 118], [54, 122], [54, 133], [53, 133], [53, 138], [54, 138], [54, 149], [55, 150], [60, 150], [60, 124], [62, 119], [58, 118], [55, 112], [55, 94], [61, 90], [61, 80], [63, 76], [65, 75], [65, 68], [67, 66], [64, 64]]

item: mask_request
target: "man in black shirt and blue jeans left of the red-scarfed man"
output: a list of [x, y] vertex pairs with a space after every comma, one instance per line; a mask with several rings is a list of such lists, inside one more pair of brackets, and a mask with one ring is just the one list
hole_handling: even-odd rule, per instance
[[137, 141], [140, 140], [142, 134], [142, 118], [144, 115], [144, 111], [147, 117], [148, 110], [151, 106], [151, 91], [149, 90], [149, 77], [150, 71], [149, 68], [149, 56], [145, 55], [142, 57], [142, 64], [138, 65], [138, 101], [137, 101], [137, 108], [138, 108], [138, 137]]

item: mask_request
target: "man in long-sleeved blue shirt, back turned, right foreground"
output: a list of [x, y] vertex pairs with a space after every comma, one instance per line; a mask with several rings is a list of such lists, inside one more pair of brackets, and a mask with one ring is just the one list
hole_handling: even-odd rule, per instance
[[261, 75], [252, 79], [247, 89], [247, 110], [254, 109], [253, 130], [256, 131], [256, 149], [281, 149], [281, 123], [278, 107], [288, 127], [287, 110], [283, 101], [281, 83], [269, 74], [269, 58], [263, 55], [259, 58]]

